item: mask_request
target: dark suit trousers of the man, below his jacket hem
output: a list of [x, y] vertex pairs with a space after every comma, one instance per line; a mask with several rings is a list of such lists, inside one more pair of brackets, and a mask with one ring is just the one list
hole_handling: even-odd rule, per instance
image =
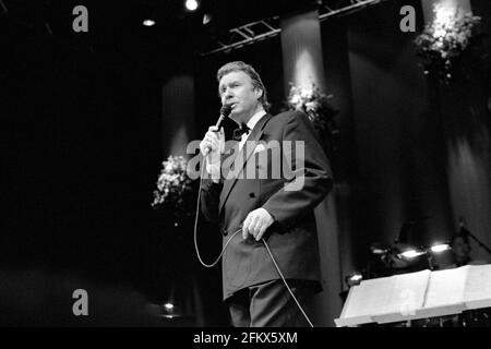
[[[287, 284], [307, 313], [304, 306], [315, 292], [313, 282], [289, 279]], [[226, 303], [235, 327], [310, 326], [282, 279], [243, 288]]]

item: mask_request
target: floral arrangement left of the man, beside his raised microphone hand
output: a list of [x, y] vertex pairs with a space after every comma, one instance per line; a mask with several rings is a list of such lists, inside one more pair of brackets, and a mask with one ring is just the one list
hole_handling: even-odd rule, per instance
[[183, 156], [169, 156], [154, 191], [152, 207], [172, 215], [175, 225], [189, 218], [194, 212], [194, 180], [187, 172], [188, 160]]

